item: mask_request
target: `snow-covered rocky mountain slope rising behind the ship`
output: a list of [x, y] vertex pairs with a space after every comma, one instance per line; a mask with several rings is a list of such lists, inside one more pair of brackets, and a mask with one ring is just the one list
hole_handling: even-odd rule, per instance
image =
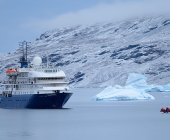
[[[19, 50], [1, 56], [1, 70], [17, 64]], [[41, 34], [29, 52], [30, 59], [38, 54], [44, 62], [48, 55], [72, 86], [124, 85], [132, 72], [165, 84], [170, 82], [170, 17], [55, 29]]]

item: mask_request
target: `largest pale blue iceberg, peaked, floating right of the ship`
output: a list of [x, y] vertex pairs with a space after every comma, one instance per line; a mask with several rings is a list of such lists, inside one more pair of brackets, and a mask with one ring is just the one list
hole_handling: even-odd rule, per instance
[[96, 100], [154, 100], [155, 98], [148, 94], [147, 91], [151, 91], [155, 86], [148, 85], [146, 80], [147, 78], [144, 75], [131, 73], [125, 86], [115, 85], [106, 87], [96, 95]]

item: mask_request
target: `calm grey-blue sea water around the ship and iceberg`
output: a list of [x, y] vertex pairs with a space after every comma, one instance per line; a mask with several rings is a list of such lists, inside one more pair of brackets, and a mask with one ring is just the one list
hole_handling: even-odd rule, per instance
[[0, 140], [169, 140], [170, 93], [154, 101], [96, 102], [101, 89], [75, 89], [61, 110], [0, 109]]

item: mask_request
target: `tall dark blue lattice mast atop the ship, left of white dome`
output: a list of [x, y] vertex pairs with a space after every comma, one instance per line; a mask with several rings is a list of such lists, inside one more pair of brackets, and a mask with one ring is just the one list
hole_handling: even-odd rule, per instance
[[30, 46], [31, 42], [23, 41], [19, 42], [19, 46], [22, 47], [23, 55], [20, 58], [20, 64], [21, 68], [27, 68], [28, 67], [28, 47]]

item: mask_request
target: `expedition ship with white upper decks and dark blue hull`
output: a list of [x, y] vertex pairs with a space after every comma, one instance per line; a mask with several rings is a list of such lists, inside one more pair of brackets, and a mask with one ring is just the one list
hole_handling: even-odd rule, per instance
[[65, 73], [54, 66], [43, 65], [36, 56], [28, 64], [27, 54], [21, 66], [6, 70], [1, 83], [0, 108], [59, 109], [71, 97]]

